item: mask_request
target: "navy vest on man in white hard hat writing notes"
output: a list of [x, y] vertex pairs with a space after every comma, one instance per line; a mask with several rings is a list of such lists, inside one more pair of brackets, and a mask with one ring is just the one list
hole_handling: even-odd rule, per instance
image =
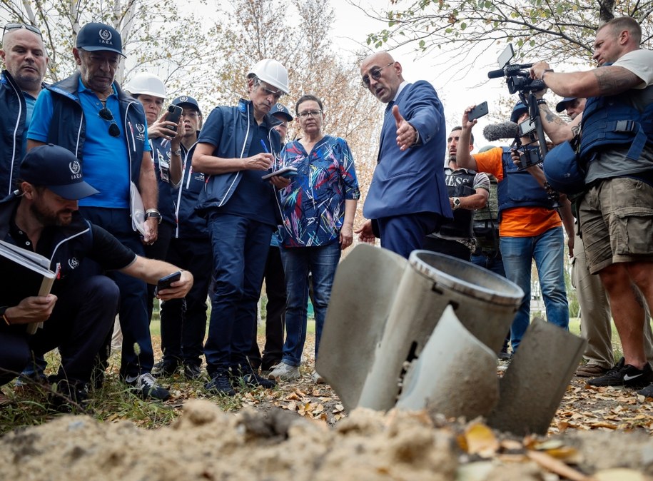
[[[247, 155], [252, 142], [250, 129], [256, 126], [252, 102], [241, 98], [238, 106], [216, 107], [211, 115], [221, 115], [224, 126], [213, 155], [221, 158], [243, 158]], [[273, 126], [280, 121], [268, 114], [265, 116], [264, 122], [265, 127], [268, 128], [268, 141], [272, 147], [270, 153], [277, 158], [281, 151], [281, 142], [279, 134], [273, 129]], [[236, 171], [207, 176], [196, 208], [199, 215], [207, 216], [209, 210], [224, 206], [236, 191], [242, 175], [241, 171]], [[280, 206], [278, 206], [278, 215], [280, 216]]]

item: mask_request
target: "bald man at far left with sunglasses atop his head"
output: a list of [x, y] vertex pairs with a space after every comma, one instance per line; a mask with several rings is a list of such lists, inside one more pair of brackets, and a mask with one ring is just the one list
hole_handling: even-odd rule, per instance
[[5, 68], [0, 76], [0, 198], [4, 198], [16, 188], [49, 59], [39, 29], [24, 24], [6, 24], [0, 57]]

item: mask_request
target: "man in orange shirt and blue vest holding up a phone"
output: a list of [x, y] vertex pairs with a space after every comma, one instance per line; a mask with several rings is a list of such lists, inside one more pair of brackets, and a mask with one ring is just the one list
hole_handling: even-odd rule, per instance
[[[459, 140], [462, 145], [470, 142], [472, 128], [477, 123], [476, 120], [470, 121], [468, 118], [472, 108], [473, 106], [467, 108], [462, 114]], [[528, 108], [521, 101], [513, 108], [510, 121], [529, 121]], [[537, 143], [533, 144], [530, 136], [526, 134], [520, 141], [527, 146], [527, 153], [538, 148]], [[530, 323], [533, 259], [540, 279], [547, 320], [567, 329], [569, 306], [563, 266], [565, 240], [560, 214], [555, 211], [555, 203], [535, 176], [526, 169], [518, 169], [512, 161], [508, 147], [491, 148], [473, 156], [465, 149], [458, 149], [456, 161], [460, 167], [491, 173], [498, 181], [499, 236], [503, 265], [507, 278], [519, 285], [525, 294], [510, 328], [512, 351], [515, 352], [519, 347]]]

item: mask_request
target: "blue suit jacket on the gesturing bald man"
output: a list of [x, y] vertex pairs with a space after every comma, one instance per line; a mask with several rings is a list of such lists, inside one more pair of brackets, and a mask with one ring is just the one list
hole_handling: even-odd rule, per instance
[[397, 126], [388, 112], [381, 129], [378, 165], [363, 215], [378, 219], [431, 212], [452, 218], [445, 185], [446, 129], [442, 103], [426, 81], [409, 83], [395, 101], [399, 113], [417, 129], [420, 145], [400, 151]]

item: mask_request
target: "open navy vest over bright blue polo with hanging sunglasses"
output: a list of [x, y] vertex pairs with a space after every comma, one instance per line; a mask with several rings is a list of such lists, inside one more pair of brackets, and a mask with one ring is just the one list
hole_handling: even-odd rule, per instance
[[[74, 153], [83, 165], [83, 146], [86, 138], [86, 122], [79, 101], [79, 72], [60, 82], [48, 86], [53, 93], [54, 112], [48, 132], [48, 143], [67, 148]], [[138, 178], [141, 174], [141, 161], [143, 160], [144, 146], [147, 141], [147, 123], [145, 111], [141, 102], [128, 96], [117, 82], [113, 86], [118, 93], [120, 103], [120, 118], [116, 122], [123, 122], [123, 131], [127, 139], [129, 156], [130, 180], [138, 187]], [[140, 131], [143, 128], [145, 135]]]

